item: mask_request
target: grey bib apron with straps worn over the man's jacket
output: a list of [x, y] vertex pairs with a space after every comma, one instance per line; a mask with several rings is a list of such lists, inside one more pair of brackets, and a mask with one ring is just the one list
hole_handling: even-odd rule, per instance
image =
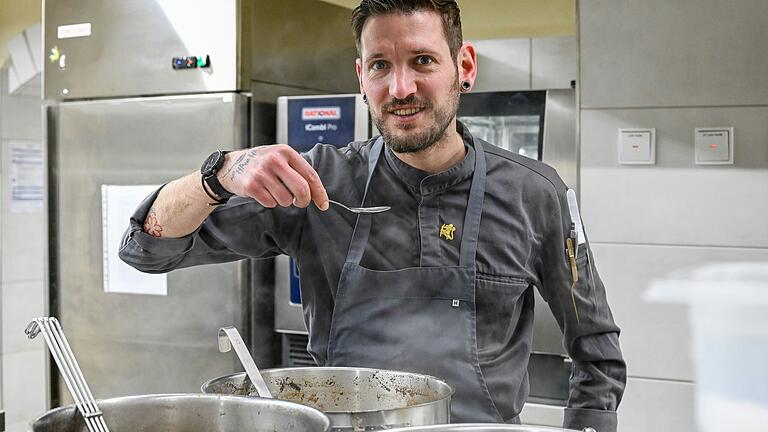
[[[336, 292], [328, 364], [441, 378], [456, 390], [451, 399], [453, 422], [498, 423], [504, 420], [488, 392], [477, 356], [475, 252], [486, 168], [482, 146], [474, 147], [475, 171], [458, 266], [392, 271], [362, 267], [375, 216], [358, 216]], [[382, 149], [379, 138], [371, 149], [363, 205]]]

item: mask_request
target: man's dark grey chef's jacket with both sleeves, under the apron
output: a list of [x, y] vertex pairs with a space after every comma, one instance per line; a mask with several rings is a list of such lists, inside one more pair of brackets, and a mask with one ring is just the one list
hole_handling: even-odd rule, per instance
[[[458, 128], [465, 143], [471, 143], [463, 126]], [[566, 252], [571, 231], [567, 187], [541, 162], [479, 139], [475, 142], [483, 145], [488, 165], [476, 261], [477, 344], [494, 403], [505, 420], [511, 420], [528, 396], [535, 287], [557, 319], [573, 360], [564, 425], [613, 432], [626, 381], [619, 328], [585, 244], [578, 248], [576, 318]], [[341, 149], [317, 145], [304, 156], [317, 170], [329, 197], [358, 205], [372, 143], [354, 142]], [[387, 148], [371, 179], [365, 205], [392, 209], [372, 218], [361, 265], [373, 270], [458, 265], [474, 159], [474, 149], [467, 145], [461, 163], [429, 174], [405, 164]], [[235, 197], [211, 213], [194, 233], [178, 239], [155, 238], [142, 231], [142, 224], [156, 195], [149, 196], [132, 216], [120, 257], [149, 273], [246, 257], [295, 257], [309, 352], [319, 365], [325, 364], [334, 296], [356, 216], [333, 205], [325, 212], [314, 205], [268, 209], [252, 199]], [[453, 240], [440, 236], [444, 224], [455, 227]], [[494, 394], [494, 382], [500, 381], [512, 382], [517, 394]]]

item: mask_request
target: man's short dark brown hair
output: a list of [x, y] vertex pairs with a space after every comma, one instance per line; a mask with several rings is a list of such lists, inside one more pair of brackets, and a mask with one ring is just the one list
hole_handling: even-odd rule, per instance
[[448, 49], [451, 51], [453, 61], [456, 62], [459, 49], [464, 42], [461, 35], [459, 5], [456, 4], [456, 0], [362, 0], [360, 5], [352, 11], [352, 31], [355, 34], [357, 55], [362, 55], [360, 38], [368, 18], [390, 13], [412, 14], [417, 11], [433, 11], [440, 14]]

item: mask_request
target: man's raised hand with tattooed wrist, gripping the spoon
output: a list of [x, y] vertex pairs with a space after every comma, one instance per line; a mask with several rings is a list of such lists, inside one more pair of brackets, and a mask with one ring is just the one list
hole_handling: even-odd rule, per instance
[[313, 201], [320, 210], [328, 209], [328, 194], [320, 176], [285, 144], [227, 153], [218, 178], [228, 191], [251, 197], [264, 207], [305, 208]]

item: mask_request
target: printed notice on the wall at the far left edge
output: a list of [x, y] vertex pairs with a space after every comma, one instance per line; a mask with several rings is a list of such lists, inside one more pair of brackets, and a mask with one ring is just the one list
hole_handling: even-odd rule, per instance
[[11, 141], [9, 170], [11, 212], [42, 211], [45, 194], [43, 146], [37, 141]]

